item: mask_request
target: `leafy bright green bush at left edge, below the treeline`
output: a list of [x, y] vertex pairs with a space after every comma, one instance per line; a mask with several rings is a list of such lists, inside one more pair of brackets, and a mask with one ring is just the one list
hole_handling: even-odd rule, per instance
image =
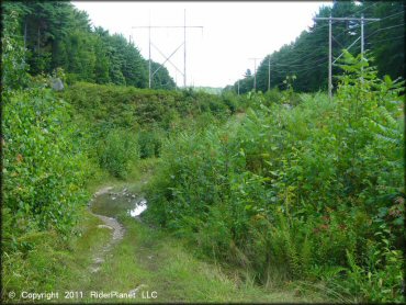
[[32, 89], [5, 100], [3, 111], [5, 248], [20, 247], [16, 237], [37, 229], [69, 234], [92, 173], [69, 105]]

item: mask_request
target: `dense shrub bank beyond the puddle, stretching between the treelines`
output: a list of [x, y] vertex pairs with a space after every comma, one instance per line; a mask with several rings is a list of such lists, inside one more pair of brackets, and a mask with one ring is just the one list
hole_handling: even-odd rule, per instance
[[79, 82], [59, 94], [87, 125], [89, 146], [98, 147], [94, 155], [100, 166], [117, 178], [126, 176], [135, 155], [159, 157], [161, 143], [170, 133], [205, 128], [237, 109], [230, 97], [191, 89], [144, 90]]

